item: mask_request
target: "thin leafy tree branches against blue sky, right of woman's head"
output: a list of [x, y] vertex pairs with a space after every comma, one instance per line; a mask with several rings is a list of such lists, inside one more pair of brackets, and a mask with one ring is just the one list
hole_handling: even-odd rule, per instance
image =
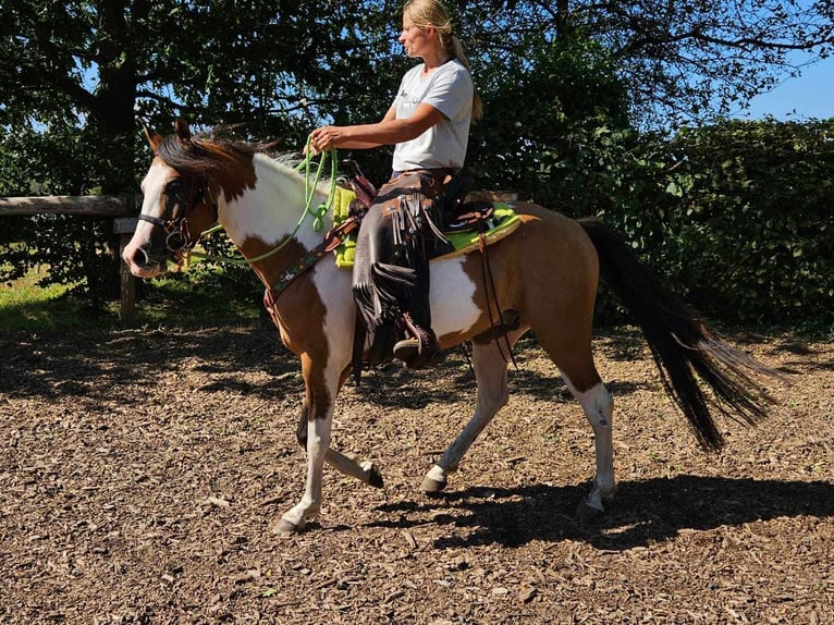
[[[491, 61], [526, 58], [517, 46], [540, 34], [544, 40], [590, 38], [608, 51], [629, 90], [633, 120], [640, 126], [697, 123], [745, 106], [787, 72], [793, 52], [805, 62], [826, 58], [834, 45], [830, 0], [539, 0], [465, 5], [479, 49]], [[476, 20], [466, 15], [475, 12]], [[511, 83], [512, 84], [512, 83]]]

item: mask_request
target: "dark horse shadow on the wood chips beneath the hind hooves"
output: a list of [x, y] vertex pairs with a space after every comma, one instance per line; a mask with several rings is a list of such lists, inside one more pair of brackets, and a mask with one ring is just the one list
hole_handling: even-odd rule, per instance
[[403, 529], [447, 525], [450, 531], [434, 540], [438, 548], [576, 540], [624, 551], [674, 538], [685, 529], [707, 530], [780, 516], [834, 516], [831, 482], [680, 475], [621, 482], [608, 512], [581, 522], [574, 512], [589, 488], [588, 483], [473, 487], [434, 495], [428, 502], [380, 505], [380, 512], [397, 519], [370, 525]]

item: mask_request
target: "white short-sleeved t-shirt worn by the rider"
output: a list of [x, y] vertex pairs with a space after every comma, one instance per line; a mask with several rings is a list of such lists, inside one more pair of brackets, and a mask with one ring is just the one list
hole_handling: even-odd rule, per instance
[[473, 79], [457, 59], [422, 76], [422, 64], [403, 76], [394, 99], [396, 119], [410, 118], [421, 102], [443, 113], [443, 119], [417, 138], [394, 147], [394, 171], [459, 169], [466, 158], [473, 110]]

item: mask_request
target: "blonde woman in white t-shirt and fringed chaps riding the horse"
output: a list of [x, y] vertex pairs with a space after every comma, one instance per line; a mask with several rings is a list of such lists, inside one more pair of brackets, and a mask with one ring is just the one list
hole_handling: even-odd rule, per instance
[[[393, 352], [417, 369], [440, 356], [429, 307], [427, 253], [436, 242], [439, 217], [432, 199], [463, 167], [469, 124], [480, 117], [481, 103], [438, 0], [405, 3], [400, 42], [409, 58], [422, 63], [403, 76], [382, 121], [317, 128], [310, 147], [323, 151], [395, 145], [391, 180], [359, 230], [353, 290], [365, 327], [373, 334], [370, 361]], [[393, 344], [403, 331], [410, 338]]]

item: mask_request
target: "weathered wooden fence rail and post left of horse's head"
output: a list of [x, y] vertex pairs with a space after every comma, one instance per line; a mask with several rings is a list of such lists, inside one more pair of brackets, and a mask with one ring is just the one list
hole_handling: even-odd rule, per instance
[[122, 260], [122, 252], [136, 230], [139, 196], [136, 195], [51, 195], [34, 197], [0, 197], [0, 217], [11, 215], [77, 215], [85, 217], [113, 218], [113, 232], [120, 237], [119, 281], [121, 304], [119, 318], [130, 324], [136, 305], [136, 281]]

